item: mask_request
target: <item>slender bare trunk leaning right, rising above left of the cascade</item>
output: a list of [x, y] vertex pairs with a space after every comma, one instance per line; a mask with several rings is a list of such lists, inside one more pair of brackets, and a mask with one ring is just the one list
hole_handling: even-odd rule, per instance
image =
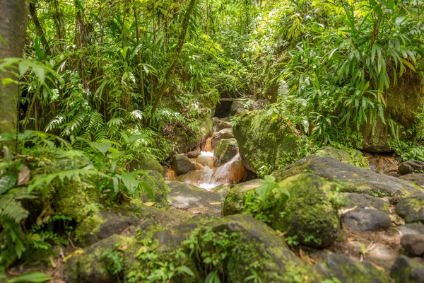
[[174, 72], [175, 67], [177, 67], [178, 57], [179, 54], [181, 54], [182, 47], [184, 46], [185, 37], [187, 35], [187, 29], [189, 28], [189, 22], [190, 22], [190, 16], [192, 15], [192, 11], [194, 9], [194, 5], [196, 4], [196, 0], [190, 0], [189, 8], [187, 8], [187, 12], [184, 16], [184, 20], [182, 21], [182, 30], [178, 38], [178, 45], [175, 48], [174, 54], [172, 54], [170, 58], [170, 65], [167, 68], [167, 71], [165, 73], [165, 81], [163, 81], [162, 86], [160, 86], [158, 95], [156, 96], [155, 104], [153, 105], [152, 111], [151, 111], [151, 119], [152, 121], [153, 114], [155, 113], [155, 110], [158, 108], [160, 99], [163, 96], [163, 93], [165, 93], [165, 90], [167, 86], [170, 83], [171, 74]]

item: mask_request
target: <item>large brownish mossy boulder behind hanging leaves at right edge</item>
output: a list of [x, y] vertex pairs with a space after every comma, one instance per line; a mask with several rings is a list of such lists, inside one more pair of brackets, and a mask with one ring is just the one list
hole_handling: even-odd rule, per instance
[[[396, 121], [399, 130], [399, 138], [410, 139], [416, 136], [415, 130], [419, 122], [416, 113], [423, 109], [424, 87], [422, 76], [411, 71], [397, 79], [396, 86], [390, 86], [387, 90], [384, 117], [388, 121]], [[369, 119], [371, 121], [371, 119]], [[362, 149], [371, 153], [391, 152], [389, 141], [395, 138], [388, 122], [383, 123], [377, 117], [376, 125], [368, 123], [360, 127], [363, 134]]]

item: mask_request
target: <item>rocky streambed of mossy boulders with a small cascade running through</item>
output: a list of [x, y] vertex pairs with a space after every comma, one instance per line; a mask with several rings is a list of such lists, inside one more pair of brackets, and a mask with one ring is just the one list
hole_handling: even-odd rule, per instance
[[246, 168], [299, 150], [298, 138], [261, 110], [239, 112], [234, 132], [215, 119], [211, 138], [167, 173], [155, 166], [155, 202], [141, 196], [79, 221], [64, 280], [424, 282], [423, 163], [368, 156], [370, 166], [359, 151], [327, 147], [275, 171], [288, 194], [264, 202], [264, 181]]

